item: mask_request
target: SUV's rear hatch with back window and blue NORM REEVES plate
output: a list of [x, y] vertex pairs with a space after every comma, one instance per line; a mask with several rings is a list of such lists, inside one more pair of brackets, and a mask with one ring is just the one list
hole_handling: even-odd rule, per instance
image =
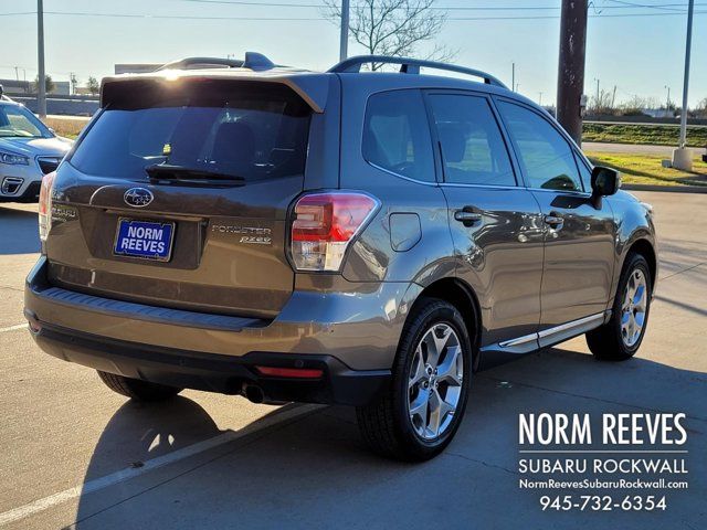
[[[148, 305], [273, 317], [312, 109], [277, 83], [114, 83], [60, 167], [50, 280]], [[104, 99], [106, 88], [104, 87]]]

